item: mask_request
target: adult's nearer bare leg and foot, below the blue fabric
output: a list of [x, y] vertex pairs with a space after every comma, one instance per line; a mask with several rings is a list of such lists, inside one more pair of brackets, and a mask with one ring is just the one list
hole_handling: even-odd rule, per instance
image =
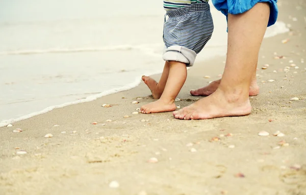
[[176, 119], [211, 119], [251, 113], [249, 87], [270, 14], [267, 3], [228, 14], [227, 58], [219, 88], [210, 96], [173, 112]]

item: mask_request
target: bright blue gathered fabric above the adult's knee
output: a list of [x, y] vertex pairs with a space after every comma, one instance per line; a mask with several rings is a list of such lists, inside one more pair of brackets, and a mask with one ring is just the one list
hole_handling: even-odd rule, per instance
[[228, 14], [241, 14], [250, 10], [255, 4], [267, 2], [270, 4], [270, 18], [268, 26], [276, 22], [278, 9], [277, 0], [212, 0], [215, 8], [227, 18]]

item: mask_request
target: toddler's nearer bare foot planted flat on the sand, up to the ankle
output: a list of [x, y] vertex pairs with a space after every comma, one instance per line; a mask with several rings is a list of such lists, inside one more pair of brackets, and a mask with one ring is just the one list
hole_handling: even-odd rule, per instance
[[174, 111], [176, 108], [174, 104], [174, 100], [167, 102], [159, 99], [155, 102], [148, 103], [146, 105], [141, 106], [140, 110], [143, 114], [150, 114], [150, 113], [164, 113], [164, 112], [171, 112]]

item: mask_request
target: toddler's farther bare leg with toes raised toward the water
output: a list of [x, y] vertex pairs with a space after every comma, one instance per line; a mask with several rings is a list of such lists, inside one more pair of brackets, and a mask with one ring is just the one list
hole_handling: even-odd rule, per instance
[[142, 80], [144, 83], [148, 86], [148, 88], [151, 90], [152, 96], [154, 99], [159, 99], [166, 86], [166, 82], [169, 75], [169, 62], [166, 61], [164, 70], [161, 76], [161, 79], [159, 82], [154, 80], [153, 78], [149, 76], [142, 76]]

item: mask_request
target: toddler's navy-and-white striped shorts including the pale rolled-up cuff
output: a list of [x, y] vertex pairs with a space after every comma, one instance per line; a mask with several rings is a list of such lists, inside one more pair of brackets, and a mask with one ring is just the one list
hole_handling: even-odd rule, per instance
[[214, 23], [208, 3], [198, 3], [167, 11], [164, 24], [165, 61], [192, 66], [196, 55], [210, 40]]

